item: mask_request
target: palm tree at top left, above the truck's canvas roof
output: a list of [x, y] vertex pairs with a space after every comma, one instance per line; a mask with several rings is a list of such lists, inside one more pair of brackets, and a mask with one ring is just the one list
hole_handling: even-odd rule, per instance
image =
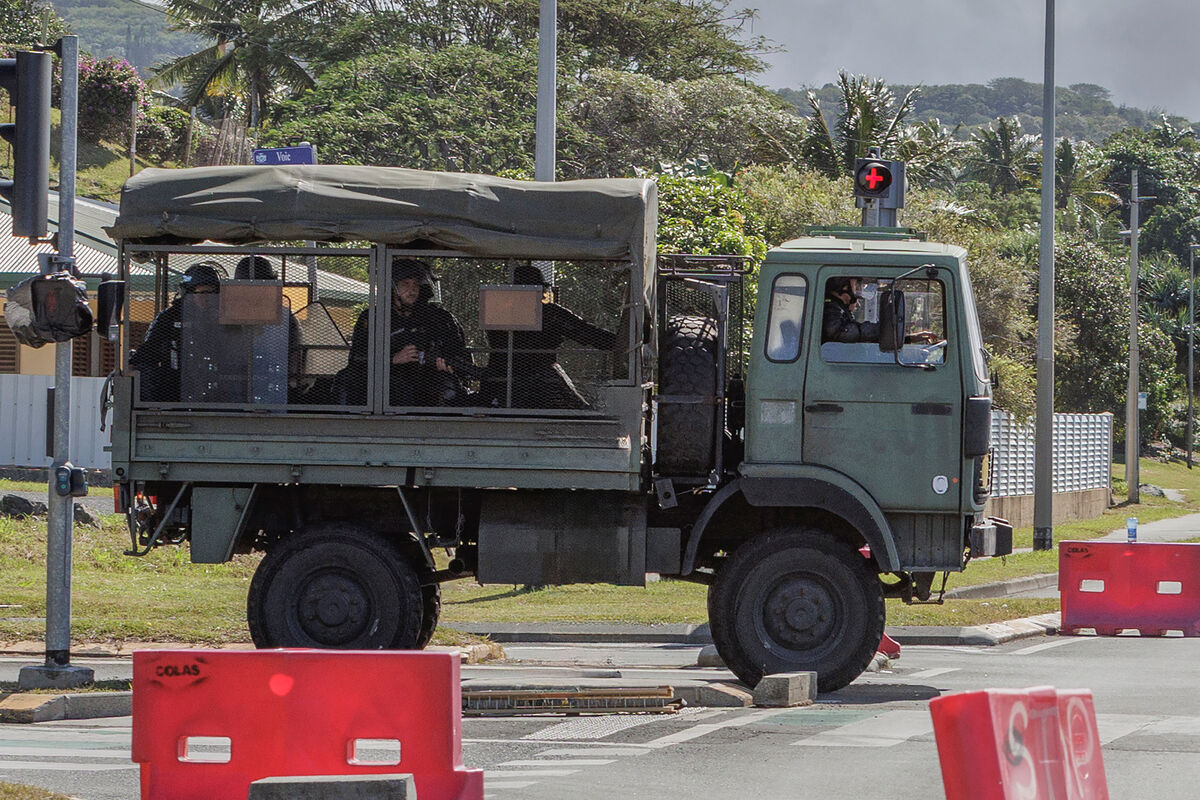
[[198, 106], [205, 96], [241, 104], [257, 128], [263, 110], [280, 89], [299, 91], [313, 78], [298, 61], [301, 26], [325, 18], [337, 0], [167, 0], [172, 29], [211, 42], [203, 50], [163, 66], [155, 83], [184, 84], [185, 101]]

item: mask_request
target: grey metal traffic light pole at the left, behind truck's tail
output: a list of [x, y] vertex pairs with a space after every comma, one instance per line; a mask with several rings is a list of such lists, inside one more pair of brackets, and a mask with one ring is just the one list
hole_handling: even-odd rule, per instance
[[[79, 38], [59, 41], [62, 59], [62, 122], [59, 161], [59, 254], [56, 270], [74, 254], [76, 133], [79, 100]], [[54, 464], [50, 468], [46, 546], [46, 663], [22, 667], [20, 688], [68, 688], [94, 682], [86, 667], [71, 664], [71, 542], [74, 498], [55, 491], [55, 473], [67, 464], [71, 443], [71, 342], [54, 347]]]

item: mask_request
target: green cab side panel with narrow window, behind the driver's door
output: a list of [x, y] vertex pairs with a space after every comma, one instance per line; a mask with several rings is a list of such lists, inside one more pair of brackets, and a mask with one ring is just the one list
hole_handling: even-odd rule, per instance
[[769, 287], [760, 302], [746, 381], [746, 462], [793, 463], [802, 459], [802, 398], [805, 324], [812, 315], [810, 281], [799, 271], [778, 265], [763, 267], [761, 287]]

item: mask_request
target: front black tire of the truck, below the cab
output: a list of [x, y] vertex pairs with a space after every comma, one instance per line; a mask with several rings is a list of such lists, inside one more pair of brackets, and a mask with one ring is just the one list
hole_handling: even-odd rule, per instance
[[763, 675], [816, 672], [833, 692], [866, 669], [883, 637], [883, 588], [851, 546], [815, 529], [756, 536], [709, 587], [716, 651], [748, 686]]

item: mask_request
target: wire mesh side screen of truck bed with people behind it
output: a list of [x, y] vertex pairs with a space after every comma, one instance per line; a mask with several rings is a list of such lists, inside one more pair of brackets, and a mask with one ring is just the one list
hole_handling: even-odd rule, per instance
[[[130, 303], [128, 366], [143, 405], [602, 410], [602, 387], [628, 375], [628, 265], [539, 263], [539, 273], [528, 261], [383, 259], [372, 311], [370, 255], [310, 257], [316, 293], [304, 255], [154, 255], [157, 297], [134, 293]], [[202, 263], [216, 293], [202, 285], [214, 282]], [[414, 271], [428, 279], [397, 293], [392, 278]], [[540, 275], [553, 288], [541, 293], [536, 330], [482, 324], [485, 287], [528, 291]]]

